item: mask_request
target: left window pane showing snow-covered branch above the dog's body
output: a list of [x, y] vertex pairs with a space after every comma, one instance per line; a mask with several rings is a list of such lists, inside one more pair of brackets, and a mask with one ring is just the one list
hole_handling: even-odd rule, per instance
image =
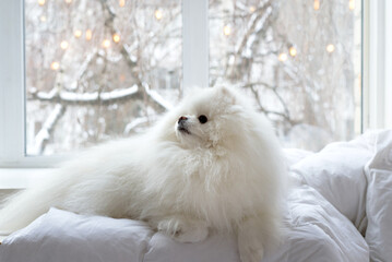
[[26, 153], [151, 124], [181, 96], [181, 2], [25, 0]]

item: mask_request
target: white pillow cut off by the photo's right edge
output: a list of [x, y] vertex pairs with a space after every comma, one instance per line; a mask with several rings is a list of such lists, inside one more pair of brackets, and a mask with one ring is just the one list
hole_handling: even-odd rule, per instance
[[371, 261], [392, 259], [392, 130], [377, 136], [376, 155], [366, 166], [366, 241]]

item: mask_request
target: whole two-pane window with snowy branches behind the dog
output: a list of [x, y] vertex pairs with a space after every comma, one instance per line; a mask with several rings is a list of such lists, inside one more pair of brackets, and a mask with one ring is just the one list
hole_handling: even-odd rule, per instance
[[361, 49], [367, 63], [372, 43], [361, 40], [363, 11], [372, 5], [364, 3], [1, 2], [1, 165], [48, 166], [139, 132], [193, 85], [243, 90], [285, 146], [317, 151], [352, 139], [375, 104], [371, 90], [361, 97], [363, 78], [367, 86], [372, 78], [361, 70]]

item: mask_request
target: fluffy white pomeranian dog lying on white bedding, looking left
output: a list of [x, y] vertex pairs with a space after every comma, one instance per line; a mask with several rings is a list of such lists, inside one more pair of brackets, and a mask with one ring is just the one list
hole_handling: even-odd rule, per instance
[[251, 105], [231, 88], [199, 90], [145, 134], [93, 147], [11, 196], [0, 230], [56, 206], [144, 221], [181, 242], [234, 233], [241, 261], [260, 261], [280, 237], [286, 171], [272, 127]]

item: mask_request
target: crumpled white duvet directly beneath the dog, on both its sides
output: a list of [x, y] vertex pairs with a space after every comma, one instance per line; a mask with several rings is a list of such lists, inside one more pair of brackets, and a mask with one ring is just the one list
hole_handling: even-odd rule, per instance
[[[368, 247], [353, 224], [320, 193], [301, 186], [288, 196], [287, 235], [263, 261], [368, 261]], [[0, 246], [7, 262], [238, 262], [236, 238], [212, 235], [179, 243], [143, 223], [83, 216], [51, 209]]]

